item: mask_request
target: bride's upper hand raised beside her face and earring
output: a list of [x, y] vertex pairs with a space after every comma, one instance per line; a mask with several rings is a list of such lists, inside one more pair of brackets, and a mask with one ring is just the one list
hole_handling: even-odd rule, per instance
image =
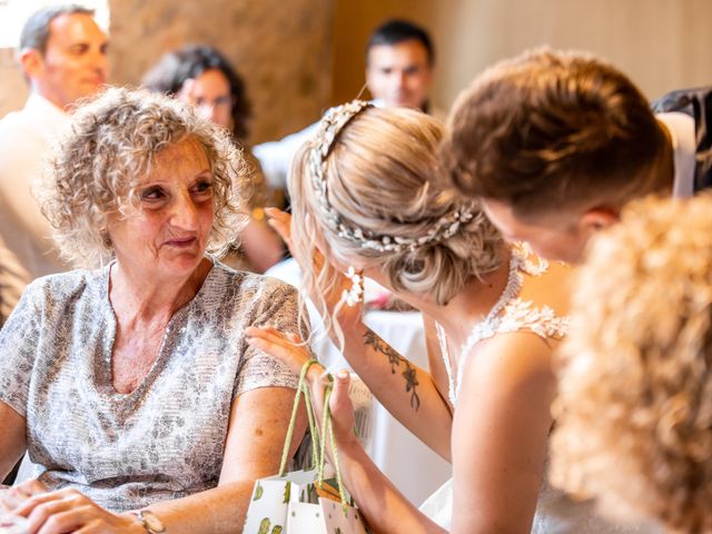
[[[268, 219], [269, 225], [275, 229], [277, 234], [279, 234], [279, 236], [287, 244], [287, 247], [289, 248], [289, 253], [299, 264], [301, 271], [305, 273], [307, 269], [310, 269], [312, 273], [320, 273], [322, 269], [324, 268], [325, 257], [318, 249], [315, 249], [314, 257], [312, 258], [310, 265], [307, 261], [307, 259], [299, 257], [298, 254], [295, 254], [296, 250], [294, 247], [294, 241], [291, 240], [291, 216], [277, 208], [266, 208], [265, 212], [269, 217]], [[319, 301], [318, 297], [323, 296], [329, 314], [334, 314], [336, 306], [342, 300], [342, 295], [344, 290], [348, 291], [353, 285], [352, 280], [349, 280], [344, 275], [344, 273], [340, 270], [338, 266], [333, 264], [332, 266], [334, 267], [334, 270], [337, 275], [334, 280], [334, 284], [332, 285], [330, 290], [324, 295], [313, 295], [313, 294], [309, 295], [309, 298], [314, 303], [318, 303]], [[359, 303], [353, 307], [348, 307], [345, 305], [342, 306], [338, 314], [338, 320], [339, 320], [339, 324], [342, 325], [342, 328], [347, 329], [359, 324], [362, 320], [362, 314], [363, 314], [363, 303]]]

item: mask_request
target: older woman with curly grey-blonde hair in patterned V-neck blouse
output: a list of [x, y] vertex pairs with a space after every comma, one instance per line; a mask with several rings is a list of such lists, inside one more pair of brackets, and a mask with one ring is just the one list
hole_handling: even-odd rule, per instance
[[0, 478], [26, 451], [43, 469], [4, 506], [29, 532], [238, 532], [296, 387], [244, 330], [299, 330], [294, 289], [214, 256], [240, 230], [239, 150], [185, 105], [109, 89], [51, 170], [58, 246], [97, 268], [36, 280], [0, 330]]

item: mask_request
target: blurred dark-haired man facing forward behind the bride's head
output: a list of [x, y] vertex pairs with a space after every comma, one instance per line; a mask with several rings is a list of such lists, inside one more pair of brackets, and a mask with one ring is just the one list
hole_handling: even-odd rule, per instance
[[[423, 28], [412, 22], [387, 20], [368, 39], [366, 86], [376, 106], [421, 109], [445, 119], [445, 113], [433, 109], [428, 101], [434, 67], [433, 42]], [[310, 125], [279, 141], [264, 142], [253, 149], [269, 187], [287, 187], [291, 160], [316, 127], [317, 123]]]

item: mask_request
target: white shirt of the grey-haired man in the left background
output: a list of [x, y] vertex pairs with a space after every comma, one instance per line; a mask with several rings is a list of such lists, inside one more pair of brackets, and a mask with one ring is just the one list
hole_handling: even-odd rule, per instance
[[68, 122], [65, 111], [39, 95], [0, 120], [0, 315], [32, 278], [68, 267], [32, 195], [52, 142]]

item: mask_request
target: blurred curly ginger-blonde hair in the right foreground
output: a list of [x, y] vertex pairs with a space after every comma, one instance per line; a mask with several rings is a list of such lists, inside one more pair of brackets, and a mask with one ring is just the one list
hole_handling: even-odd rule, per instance
[[552, 479], [619, 517], [712, 528], [712, 197], [594, 240], [561, 350]]

